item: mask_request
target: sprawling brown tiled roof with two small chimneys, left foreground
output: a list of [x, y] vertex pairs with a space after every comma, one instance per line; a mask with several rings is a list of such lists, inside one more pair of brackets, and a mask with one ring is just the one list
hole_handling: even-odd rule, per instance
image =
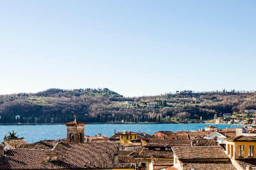
[[[99, 169], [136, 168], [135, 164], [114, 164], [118, 142], [58, 143], [53, 151], [11, 149], [0, 162], [0, 169]], [[57, 162], [47, 162], [46, 153], [58, 153]], [[91, 164], [89, 164], [91, 163]]]

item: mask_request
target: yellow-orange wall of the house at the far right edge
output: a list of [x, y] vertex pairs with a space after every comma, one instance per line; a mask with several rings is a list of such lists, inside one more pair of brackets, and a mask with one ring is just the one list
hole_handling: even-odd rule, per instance
[[[228, 144], [229, 144], [229, 148], [228, 148]], [[233, 145], [233, 156], [231, 153], [231, 145]], [[253, 157], [249, 157], [249, 158], [256, 158], [256, 142], [250, 142], [250, 141], [246, 141], [246, 142], [232, 142], [232, 141], [226, 141], [226, 152], [229, 152], [229, 156], [231, 159], [238, 159], [238, 158], [242, 158], [242, 157], [238, 157], [238, 146], [239, 145], [243, 145], [244, 146], [244, 158], [248, 158], [248, 146], [249, 145], [253, 145]], [[232, 156], [232, 157], [231, 157]]]

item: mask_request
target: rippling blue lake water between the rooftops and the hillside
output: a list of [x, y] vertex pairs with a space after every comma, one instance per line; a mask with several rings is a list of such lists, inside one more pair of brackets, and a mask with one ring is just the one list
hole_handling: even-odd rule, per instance
[[[217, 126], [216, 124], [86, 124], [84, 126], [84, 135], [95, 136], [98, 133], [111, 137], [114, 130], [122, 132], [123, 130], [152, 134], [159, 130], [198, 130], [206, 126]], [[241, 125], [238, 125], [241, 128]], [[218, 124], [219, 129], [236, 128], [237, 125]], [[25, 137], [24, 141], [28, 143], [38, 142], [44, 139], [62, 139], [67, 137], [67, 127], [64, 124], [58, 125], [0, 125], [0, 142], [4, 135], [8, 136], [8, 131], [17, 132], [19, 137]]]

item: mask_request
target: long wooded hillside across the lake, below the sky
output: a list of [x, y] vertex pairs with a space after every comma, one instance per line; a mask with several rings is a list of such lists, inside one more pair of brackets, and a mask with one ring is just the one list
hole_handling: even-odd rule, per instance
[[[23, 95], [25, 99], [20, 98]], [[164, 96], [167, 99], [163, 99]], [[224, 113], [256, 109], [256, 92], [234, 90], [183, 91], [128, 98], [107, 88], [48, 89], [38, 93], [0, 95], [0, 99], [0, 123], [65, 123], [73, 121], [75, 114], [82, 122], [170, 122], [174, 118], [207, 120], [215, 114], [219, 117]], [[158, 107], [148, 108], [147, 103], [155, 103]], [[17, 120], [16, 115], [20, 116]]]

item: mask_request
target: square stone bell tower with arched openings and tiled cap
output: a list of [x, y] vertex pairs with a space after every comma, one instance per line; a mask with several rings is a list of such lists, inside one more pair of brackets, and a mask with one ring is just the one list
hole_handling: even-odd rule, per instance
[[75, 121], [65, 123], [67, 126], [67, 142], [84, 142], [84, 125], [86, 123]]

